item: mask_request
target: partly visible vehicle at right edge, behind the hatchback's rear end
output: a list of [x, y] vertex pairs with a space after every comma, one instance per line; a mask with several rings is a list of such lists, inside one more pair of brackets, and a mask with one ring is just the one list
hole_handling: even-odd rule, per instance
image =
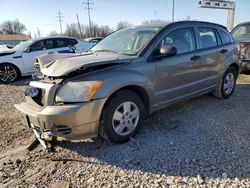
[[250, 70], [250, 22], [240, 23], [231, 33], [234, 39], [239, 42], [242, 70]]

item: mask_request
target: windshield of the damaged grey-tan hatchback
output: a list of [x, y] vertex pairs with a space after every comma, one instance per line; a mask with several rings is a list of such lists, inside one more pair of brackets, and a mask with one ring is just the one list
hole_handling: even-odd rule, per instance
[[159, 29], [156, 27], [123, 29], [100, 41], [90, 51], [136, 55]]

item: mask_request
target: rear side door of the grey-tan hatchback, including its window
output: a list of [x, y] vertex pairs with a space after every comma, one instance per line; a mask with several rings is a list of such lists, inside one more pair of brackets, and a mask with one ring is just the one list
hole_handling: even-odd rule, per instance
[[202, 85], [205, 88], [216, 86], [220, 65], [224, 61], [227, 50], [222, 45], [218, 32], [208, 26], [197, 27], [199, 51], [201, 56]]

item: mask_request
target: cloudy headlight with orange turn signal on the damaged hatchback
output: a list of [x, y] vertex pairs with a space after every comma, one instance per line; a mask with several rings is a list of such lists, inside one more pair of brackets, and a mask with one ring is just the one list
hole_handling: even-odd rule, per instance
[[90, 101], [102, 84], [102, 81], [68, 82], [57, 91], [56, 102]]

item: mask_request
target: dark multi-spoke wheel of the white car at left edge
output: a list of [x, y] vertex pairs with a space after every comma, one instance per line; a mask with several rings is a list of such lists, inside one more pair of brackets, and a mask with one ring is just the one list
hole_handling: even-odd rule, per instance
[[0, 82], [8, 84], [20, 77], [20, 71], [11, 64], [0, 64]]

